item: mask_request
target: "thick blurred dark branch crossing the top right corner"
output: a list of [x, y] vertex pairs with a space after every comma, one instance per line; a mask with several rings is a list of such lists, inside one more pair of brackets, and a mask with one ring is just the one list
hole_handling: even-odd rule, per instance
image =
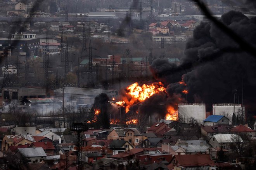
[[250, 43], [248, 43], [247, 41], [245, 41], [242, 37], [240, 37], [239, 35], [237, 35], [232, 29], [230, 29], [227, 25], [225, 25], [223, 22], [221, 22], [220, 20], [216, 19], [215, 17], [213, 17], [213, 15], [211, 14], [211, 12], [209, 11], [209, 9], [206, 7], [206, 5], [201, 1], [201, 0], [192, 0], [193, 2], [195, 2], [199, 8], [202, 10], [202, 12], [204, 13], [204, 15], [206, 15], [206, 17], [211, 20], [211, 22], [213, 22], [221, 31], [223, 31], [228, 37], [230, 37], [231, 39], [233, 39], [235, 42], [237, 42], [237, 44], [239, 44], [240, 48], [243, 49], [245, 52], [253, 55], [254, 57], [256, 57], [256, 48], [254, 46], [252, 46]]

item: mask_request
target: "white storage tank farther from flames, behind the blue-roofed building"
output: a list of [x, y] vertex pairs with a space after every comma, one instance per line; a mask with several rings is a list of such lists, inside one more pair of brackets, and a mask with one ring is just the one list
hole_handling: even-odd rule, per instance
[[[245, 111], [245, 106], [244, 106]], [[237, 116], [237, 113], [242, 111], [242, 105], [241, 104], [235, 104], [235, 114]], [[232, 115], [234, 112], [234, 104], [233, 103], [220, 103], [220, 104], [213, 104], [213, 114], [215, 115], [228, 115], [229, 121], [232, 121]]]

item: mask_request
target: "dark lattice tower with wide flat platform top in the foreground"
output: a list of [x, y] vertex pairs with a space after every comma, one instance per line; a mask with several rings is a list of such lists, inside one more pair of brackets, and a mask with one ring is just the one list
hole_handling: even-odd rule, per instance
[[83, 132], [87, 131], [87, 126], [85, 122], [76, 122], [71, 124], [70, 129], [71, 131], [76, 132], [76, 151], [77, 151], [76, 170], [82, 170], [83, 169], [82, 150], [81, 150], [81, 146], [83, 145], [82, 137], [83, 137]]

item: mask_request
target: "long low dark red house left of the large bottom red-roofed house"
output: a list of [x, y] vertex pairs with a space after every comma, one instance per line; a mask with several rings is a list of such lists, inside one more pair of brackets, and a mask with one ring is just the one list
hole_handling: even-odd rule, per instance
[[136, 155], [137, 160], [140, 161], [142, 165], [149, 165], [151, 163], [159, 163], [161, 161], [170, 162], [173, 158], [173, 155], [166, 153], [155, 153], [155, 154], [144, 154], [144, 155]]

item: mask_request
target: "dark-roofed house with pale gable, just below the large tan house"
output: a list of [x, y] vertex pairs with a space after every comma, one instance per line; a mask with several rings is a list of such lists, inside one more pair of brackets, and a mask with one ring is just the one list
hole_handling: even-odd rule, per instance
[[113, 155], [131, 150], [132, 148], [133, 146], [125, 140], [111, 140], [109, 144], [109, 149], [113, 150]]

